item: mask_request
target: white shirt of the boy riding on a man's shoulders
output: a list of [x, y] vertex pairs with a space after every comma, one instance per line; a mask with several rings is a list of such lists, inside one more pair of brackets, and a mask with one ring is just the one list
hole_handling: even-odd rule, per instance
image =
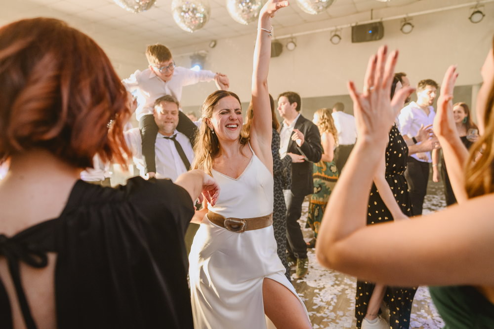
[[137, 98], [137, 109], [135, 117], [137, 121], [145, 114], [153, 114], [155, 101], [165, 95], [171, 95], [180, 102], [182, 88], [200, 81], [211, 81], [216, 73], [207, 70], [192, 71], [177, 66], [173, 70], [170, 81], [163, 81], [151, 69], [137, 70], [128, 78], [122, 80], [125, 88], [135, 94]]

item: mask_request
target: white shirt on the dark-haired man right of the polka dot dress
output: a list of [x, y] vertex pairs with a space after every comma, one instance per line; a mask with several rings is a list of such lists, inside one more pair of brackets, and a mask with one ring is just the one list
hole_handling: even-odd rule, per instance
[[[415, 102], [412, 102], [404, 107], [398, 116], [398, 121], [400, 122], [400, 133], [403, 136], [407, 135], [409, 138], [412, 138], [417, 135], [421, 125], [424, 125], [425, 127], [432, 124], [434, 122], [436, 112], [434, 112], [434, 108], [432, 106], [429, 106], [428, 108], [429, 115], [427, 115], [425, 111], [422, 110]], [[420, 144], [420, 142], [417, 144]], [[416, 153], [411, 156], [418, 161], [432, 162], [431, 152], [425, 152], [425, 154], [427, 155], [427, 161], [419, 159]]]

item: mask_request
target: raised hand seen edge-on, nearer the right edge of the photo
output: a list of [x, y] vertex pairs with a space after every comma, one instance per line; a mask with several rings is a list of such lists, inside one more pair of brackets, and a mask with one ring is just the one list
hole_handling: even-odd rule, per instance
[[450, 66], [444, 74], [434, 117], [434, 133], [438, 137], [452, 138], [458, 135], [453, 119], [453, 88], [457, 77], [455, 65]]

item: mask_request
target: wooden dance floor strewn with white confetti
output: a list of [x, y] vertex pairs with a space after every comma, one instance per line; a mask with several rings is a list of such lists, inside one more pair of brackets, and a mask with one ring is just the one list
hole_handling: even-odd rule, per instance
[[[424, 213], [444, 207], [440, 185], [432, 186], [432, 193], [424, 203]], [[307, 200], [303, 204], [300, 224], [306, 241], [312, 236], [305, 229]], [[309, 249], [309, 273], [303, 279], [292, 283], [305, 303], [312, 325], [318, 328], [355, 328], [355, 285], [354, 277], [323, 268], [316, 260], [314, 250]], [[293, 272], [292, 272], [293, 273]], [[426, 287], [420, 287], [413, 300], [411, 328], [442, 328], [443, 320], [438, 315]]]

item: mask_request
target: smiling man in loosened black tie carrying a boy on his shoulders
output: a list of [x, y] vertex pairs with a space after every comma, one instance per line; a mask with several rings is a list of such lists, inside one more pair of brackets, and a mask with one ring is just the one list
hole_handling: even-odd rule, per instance
[[[155, 142], [156, 177], [169, 178], [172, 181], [188, 171], [194, 159], [191, 141], [176, 130], [179, 120], [178, 109], [178, 101], [170, 95], [158, 98], [154, 106], [154, 119], [158, 126]], [[125, 132], [125, 138], [132, 151], [134, 163], [144, 177], [139, 129], [134, 128]]]

